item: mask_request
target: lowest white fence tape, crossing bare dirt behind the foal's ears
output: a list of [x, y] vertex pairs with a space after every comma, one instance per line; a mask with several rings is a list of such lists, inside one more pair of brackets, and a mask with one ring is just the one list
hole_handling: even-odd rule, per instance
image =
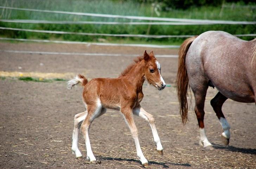
[[[25, 51], [25, 50], [0, 50], [0, 52], [19, 53], [19, 54], [41, 54], [41, 55], [130, 56], [130, 57], [140, 56], [136, 54], [102, 54], [102, 53], [47, 52], [47, 51]], [[155, 55], [155, 57], [177, 58], [178, 55]]]

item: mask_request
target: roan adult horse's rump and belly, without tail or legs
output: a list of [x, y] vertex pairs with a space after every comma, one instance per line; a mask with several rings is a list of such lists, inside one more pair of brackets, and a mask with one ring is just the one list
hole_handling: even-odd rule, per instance
[[199, 79], [204, 79], [202, 83], [210, 80], [224, 96], [254, 102], [256, 66], [250, 61], [255, 45], [255, 40], [244, 41], [223, 31], [199, 35], [186, 56], [190, 84], [196, 85]]

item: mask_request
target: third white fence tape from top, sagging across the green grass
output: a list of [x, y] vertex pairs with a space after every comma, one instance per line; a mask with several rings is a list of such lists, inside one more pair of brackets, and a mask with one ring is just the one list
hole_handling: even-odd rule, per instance
[[[19, 30], [37, 33], [49, 34], [75, 34], [75, 35], [88, 35], [88, 36], [117, 36], [117, 37], [149, 37], [149, 38], [168, 38], [168, 37], [192, 37], [195, 35], [141, 35], [141, 34], [99, 34], [99, 33], [83, 33], [83, 32], [68, 32], [68, 31], [55, 31], [55, 30], [38, 30], [38, 29], [20, 29], [20, 28], [6, 28], [0, 27], [5, 30]], [[237, 34], [234, 36], [256, 36], [256, 34]]]

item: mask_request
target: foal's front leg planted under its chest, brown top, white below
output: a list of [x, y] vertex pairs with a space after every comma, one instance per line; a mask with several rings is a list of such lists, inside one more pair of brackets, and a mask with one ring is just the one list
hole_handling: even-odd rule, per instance
[[141, 148], [140, 148], [138, 129], [134, 123], [132, 109], [131, 108], [121, 108], [121, 112], [123, 113], [124, 119], [126, 120], [128, 127], [130, 128], [130, 132], [132, 133], [132, 137], [134, 139], [136, 150], [137, 150], [137, 157], [140, 159], [142, 165], [145, 168], [149, 168], [148, 161], [144, 157], [144, 155], [141, 151]]

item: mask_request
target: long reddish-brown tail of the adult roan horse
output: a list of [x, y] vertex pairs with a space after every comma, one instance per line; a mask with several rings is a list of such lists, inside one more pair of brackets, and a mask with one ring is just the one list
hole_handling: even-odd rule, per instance
[[187, 51], [197, 36], [191, 37], [186, 39], [180, 46], [179, 49], [179, 60], [178, 60], [178, 73], [176, 79], [176, 86], [177, 86], [177, 94], [180, 103], [180, 115], [182, 118], [183, 124], [187, 122], [187, 112], [188, 112], [188, 105], [187, 105], [187, 88], [188, 88], [188, 76], [187, 70], [185, 65]]

